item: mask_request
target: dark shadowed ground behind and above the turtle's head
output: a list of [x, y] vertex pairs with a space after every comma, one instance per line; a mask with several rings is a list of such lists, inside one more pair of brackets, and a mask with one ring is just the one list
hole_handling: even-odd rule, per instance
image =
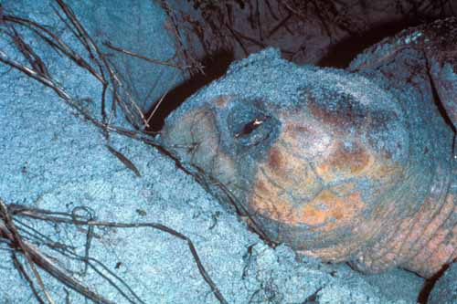
[[[456, 16], [457, 0], [163, 0], [180, 32], [179, 57], [201, 63], [168, 92], [149, 131], [230, 62], [278, 47], [297, 64], [345, 68], [356, 54], [409, 26]], [[154, 109], [154, 105], [151, 110]], [[150, 111], [151, 111], [150, 110]]]

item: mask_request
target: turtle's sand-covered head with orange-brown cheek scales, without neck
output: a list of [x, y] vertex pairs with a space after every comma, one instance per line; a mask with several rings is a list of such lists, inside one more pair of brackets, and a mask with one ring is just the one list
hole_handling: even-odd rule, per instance
[[161, 141], [272, 241], [347, 261], [409, 212], [408, 128], [376, 83], [268, 49], [186, 100]]

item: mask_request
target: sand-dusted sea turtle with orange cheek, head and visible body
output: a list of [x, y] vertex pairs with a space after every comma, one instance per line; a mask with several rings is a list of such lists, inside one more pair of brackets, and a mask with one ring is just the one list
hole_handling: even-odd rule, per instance
[[345, 70], [267, 48], [186, 100], [160, 141], [272, 241], [430, 278], [457, 257], [456, 54], [457, 18], [386, 38]]

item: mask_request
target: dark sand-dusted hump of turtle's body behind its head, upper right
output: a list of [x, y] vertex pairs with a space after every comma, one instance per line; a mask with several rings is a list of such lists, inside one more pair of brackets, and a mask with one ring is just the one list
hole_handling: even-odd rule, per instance
[[[423, 67], [430, 76], [431, 86], [445, 119], [457, 127], [457, 18], [435, 21], [401, 31], [388, 37], [355, 58], [348, 69], [363, 71], [387, 65], [405, 50], [420, 52]], [[416, 61], [420, 62], [420, 61]]]

